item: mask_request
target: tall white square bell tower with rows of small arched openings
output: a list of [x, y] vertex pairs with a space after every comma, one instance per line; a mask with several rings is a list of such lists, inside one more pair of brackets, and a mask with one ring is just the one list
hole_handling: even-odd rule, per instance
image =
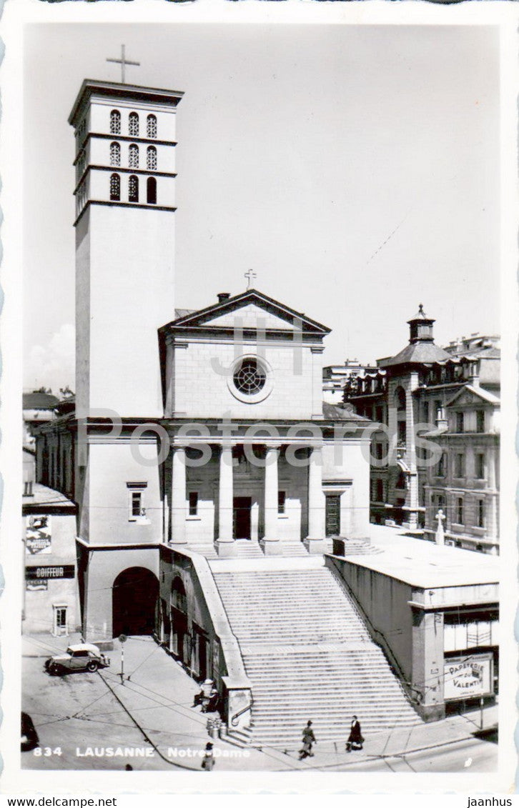
[[175, 90], [86, 79], [76, 170], [76, 412], [162, 415], [157, 329], [171, 320]]

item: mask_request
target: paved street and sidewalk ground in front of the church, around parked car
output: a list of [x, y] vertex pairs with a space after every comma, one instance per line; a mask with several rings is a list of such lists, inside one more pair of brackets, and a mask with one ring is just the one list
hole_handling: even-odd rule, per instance
[[[351, 754], [340, 744], [318, 743], [314, 757], [302, 762], [297, 760], [298, 738], [288, 754], [272, 747], [241, 749], [209, 737], [207, 716], [192, 707], [199, 686], [151, 638], [129, 638], [125, 643], [124, 671], [130, 678], [124, 684], [117, 642], [108, 652], [110, 667], [50, 676], [44, 660], [60, 650], [59, 643], [45, 635], [24, 641], [22, 709], [36, 726], [40, 747], [22, 753], [22, 768], [199, 770], [200, 755], [212, 740], [221, 770], [496, 770], [492, 734], [476, 738], [472, 733], [477, 727], [468, 718], [418, 725], [389, 736], [379, 733], [366, 739], [364, 751]], [[407, 751], [412, 749], [420, 751]]]

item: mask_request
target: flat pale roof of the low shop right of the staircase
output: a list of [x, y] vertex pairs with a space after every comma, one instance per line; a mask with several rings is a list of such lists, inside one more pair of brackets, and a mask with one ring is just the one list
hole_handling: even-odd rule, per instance
[[356, 566], [420, 589], [499, 582], [500, 559], [495, 556], [403, 536], [395, 528], [382, 525], [371, 524], [369, 528], [373, 545], [383, 552], [348, 556], [348, 562]]

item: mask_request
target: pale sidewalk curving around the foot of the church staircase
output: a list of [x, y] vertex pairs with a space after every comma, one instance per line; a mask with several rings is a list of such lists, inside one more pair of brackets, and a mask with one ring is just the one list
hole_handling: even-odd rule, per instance
[[[129, 676], [124, 680], [124, 685], [119, 675], [118, 641], [108, 656], [111, 667], [101, 674], [106, 684], [158, 752], [171, 765], [177, 764], [182, 768], [199, 769], [200, 750], [211, 741], [217, 766], [225, 770], [286, 771], [342, 766], [352, 770], [361, 761], [455, 743], [470, 739], [479, 730], [479, 711], [476, 711], [445, 718], [441, 722], [373, 734], [366, 739], [363, 751], [351, 754], [344, 751], [344, 743], [317, 743], [314, 757], [300, 762], [297, 760], [299, 738], [294, 738], [293, 748], [286, 752], [272, 747], [242, 750], [221, 739], [210, 738], [206, 729], [209, 715], [200, 713], [200, 707], [191, 706], [199, 685], [150, 638], [130, 638], [124, 643], [124, 675]], [[490, 727], [496, 722], [497, 706], [485, 709], [484, 726]]]

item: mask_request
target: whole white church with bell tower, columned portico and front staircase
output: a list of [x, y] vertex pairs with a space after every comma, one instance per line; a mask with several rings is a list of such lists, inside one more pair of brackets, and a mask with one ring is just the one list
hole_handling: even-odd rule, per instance
[[380, 551], [372, 422], [323, 403], [330, 329], [255, 288], [175, 308], [182, 98], [85, 80], [69, 118], [75, 412], [36, 462], [76, 503], [83, 637], [153, 635], [215, 681], [236, 743], [293, 742], [310, 714], [328, 740], [352, 713], [439, 718], [441, 688], [406, 689], [331, 558]]

